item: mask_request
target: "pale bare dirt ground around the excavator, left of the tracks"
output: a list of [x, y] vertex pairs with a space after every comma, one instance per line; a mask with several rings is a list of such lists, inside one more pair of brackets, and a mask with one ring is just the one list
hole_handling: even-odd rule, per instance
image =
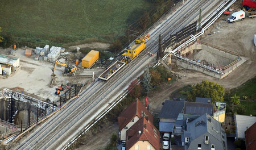
[[[7, 54], [5, 51], [6, 49], [0, 49], [0, 53]], [[85, 84], [92, 81], [91, 78], [79, 76], [79, 71], [74, 77], [63, 77], [64, 67], [56, 66], [57, 82], [55, 86], [49, 87], [53, 63], [36, 61], [33, 56], [27, 57], [24, 55], [24, 49], [20, 48], [14, 52], [13, 57], [20, 58], [20, 69], [6, 79], [0, 78], [0, 90], [3, 88], [17, 89], [19, 92], [24, 91], [25, 94], [45, 101], [47, 98], [58, 99], [54, 94], [55, 88], [67, 83], [67, 81], [69, 84]], [[84, 72], [84, 69], [81, 69], [80, 72]]]

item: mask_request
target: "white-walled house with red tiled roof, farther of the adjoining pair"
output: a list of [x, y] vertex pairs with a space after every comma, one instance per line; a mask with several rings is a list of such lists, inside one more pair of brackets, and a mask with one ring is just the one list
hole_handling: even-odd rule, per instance
[[146, 107], [137, 99], [136, 102], [131, 103], [118, 117], [119, 137], [121, 141], [126, 140], [126, 131], [133, 126], [141, 118], [147, 118], [153, 122], [153, 116], [146, 109]]

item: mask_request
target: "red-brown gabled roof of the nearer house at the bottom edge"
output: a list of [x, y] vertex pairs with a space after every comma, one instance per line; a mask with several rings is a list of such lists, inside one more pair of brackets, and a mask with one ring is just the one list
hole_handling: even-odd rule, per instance
[[160, 149], [160, 133], [152, 122], [144, 117], [126, 131], [126, 149], [133, 147], [139, 140], [148, 141], [156, 150]]

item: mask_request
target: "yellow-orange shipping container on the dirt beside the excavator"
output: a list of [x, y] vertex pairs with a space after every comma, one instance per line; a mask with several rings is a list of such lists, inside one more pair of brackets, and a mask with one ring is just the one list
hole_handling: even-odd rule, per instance
[[83, 59], [82, 59], [82, 66], [86, 68], [90, 68], [93, 63], [98, 60], [98, 51], [91, 50]]

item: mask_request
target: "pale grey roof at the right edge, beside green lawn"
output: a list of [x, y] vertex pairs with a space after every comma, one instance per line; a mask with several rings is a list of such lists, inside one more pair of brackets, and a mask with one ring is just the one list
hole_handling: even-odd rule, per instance
[[256, 116], [235, 115], [238, 139], [245, 139], [245, 131], [256, 122]]

